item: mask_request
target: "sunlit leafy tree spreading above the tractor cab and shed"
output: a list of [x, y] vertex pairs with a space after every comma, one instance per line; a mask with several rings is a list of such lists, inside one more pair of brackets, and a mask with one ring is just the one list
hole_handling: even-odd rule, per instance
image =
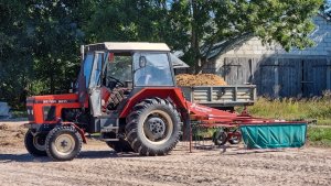
[[287, 51], [313, 45], [311, 18], [321, 4], [322, 0], [102, 0], [88, 28], [93, 41], [167, 42], [183, 51], [184, 61], [200, 73], [221, 41], [221, 53], [252, 36]]

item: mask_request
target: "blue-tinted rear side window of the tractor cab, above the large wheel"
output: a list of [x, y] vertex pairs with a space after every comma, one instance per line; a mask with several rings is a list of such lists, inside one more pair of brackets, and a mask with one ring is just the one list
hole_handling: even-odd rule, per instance
[[136, 86], [174, 86], [167, 53], [136, 53], [134, 72]]

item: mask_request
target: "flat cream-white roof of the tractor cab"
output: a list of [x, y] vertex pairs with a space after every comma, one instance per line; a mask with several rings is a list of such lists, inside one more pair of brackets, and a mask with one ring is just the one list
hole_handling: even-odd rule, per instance
[[110, 52], [135, 52], [135, 51], [154, 51], [170, 52], [166, 43], [140, 43], [140, 42], [104, 42], [85, 45], [85, 52], [110, 51]]

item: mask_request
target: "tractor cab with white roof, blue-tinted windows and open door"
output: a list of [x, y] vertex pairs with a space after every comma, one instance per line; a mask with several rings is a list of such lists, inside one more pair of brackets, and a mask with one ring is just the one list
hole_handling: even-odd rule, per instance
[[[143, 87], [173, 87], [170, 50], [159, 43], [102, 43], [84, 46], [79, 101], [94, 117], [109, 114]], [[132, 94], [131, 94], [132, 92]], [[88, 98], [88, 99], [87, 99]]]

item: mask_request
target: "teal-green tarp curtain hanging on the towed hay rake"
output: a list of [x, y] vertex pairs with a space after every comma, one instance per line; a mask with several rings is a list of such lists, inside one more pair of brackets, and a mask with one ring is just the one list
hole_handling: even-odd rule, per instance
[[301, 147], [306, 143], [307, 123], [268, 123], [241, 125], [248, 149]]

